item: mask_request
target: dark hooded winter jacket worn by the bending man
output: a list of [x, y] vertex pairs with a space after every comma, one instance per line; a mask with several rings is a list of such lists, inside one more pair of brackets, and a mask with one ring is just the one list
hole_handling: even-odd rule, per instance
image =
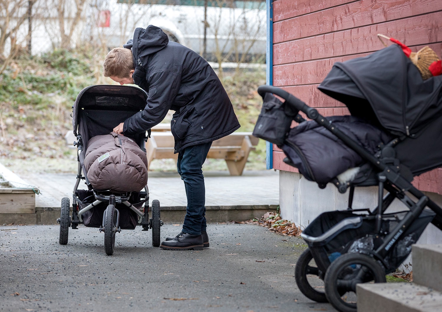
[[134, 83], [148, 92], [143, 111], [126, 119], [124, 133], [142, 133], [175, 110], [171, 131], [175, 153], [217, 140], [240, 127], [229, 96], [210, 65], [158, 27], [137, 28], [131, 49]]

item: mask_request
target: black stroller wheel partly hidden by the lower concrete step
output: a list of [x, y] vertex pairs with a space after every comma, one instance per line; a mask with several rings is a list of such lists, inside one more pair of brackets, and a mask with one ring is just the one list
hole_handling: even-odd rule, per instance
[[385, 283], [385, 270], [368, 255], [348, 253], [328, 266], [324, 282], [325, 296], [336, 310], [357, 312], [356, 284]]

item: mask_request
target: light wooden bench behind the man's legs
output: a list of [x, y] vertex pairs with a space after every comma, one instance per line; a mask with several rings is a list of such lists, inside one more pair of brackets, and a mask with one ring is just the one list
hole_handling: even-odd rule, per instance
[[[249, 153], [256, 149], [258, 141], [251, 132], [234, 132], [213, 141], [207, 158], [224, 159], [230, 175], [242, 175]], [[178, 154], [174, 154], [174, 145], [175, 140], [170, 131], [152, 131], [146, 143], [149, 166], [154, 159], [178, 159]]]

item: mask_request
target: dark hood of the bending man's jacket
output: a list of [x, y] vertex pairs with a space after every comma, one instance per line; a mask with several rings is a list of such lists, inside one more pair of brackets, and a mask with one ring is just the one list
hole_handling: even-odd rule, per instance
[[123, 47], [132, 49], [134, 58], [144, 58], [149, 54], [156, 53], [167, 46], [169, 38], [161, 28], [149, 25], [146, 29], [135, 29], [133, 39], [130, 39]]

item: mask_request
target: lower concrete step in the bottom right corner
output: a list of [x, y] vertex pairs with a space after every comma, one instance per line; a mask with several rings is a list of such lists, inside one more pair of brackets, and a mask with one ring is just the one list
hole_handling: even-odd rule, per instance
[[441, 292], [414, 282], [358, 284], [356, 292], [358, 312], [440, 312], [442, 307]]

